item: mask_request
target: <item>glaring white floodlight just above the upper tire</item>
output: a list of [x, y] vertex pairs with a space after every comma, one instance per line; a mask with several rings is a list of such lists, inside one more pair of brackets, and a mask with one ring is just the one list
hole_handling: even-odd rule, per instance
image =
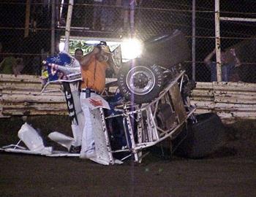
[[127, 39], [121, 43], [121, 53], [124, 59], [134, 59], [142, 53], [142, 45], [138, 39]]

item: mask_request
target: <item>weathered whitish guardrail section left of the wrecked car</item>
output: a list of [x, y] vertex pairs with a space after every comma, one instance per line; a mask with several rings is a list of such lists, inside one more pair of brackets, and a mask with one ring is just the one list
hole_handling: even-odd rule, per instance
[[[61, 85], [49, 85], [48, 90], [60, 90]], [[39, 95], [39, 77], [31, 75], [0, 75], [0, 117], [13, 115], [67, 115], [67, 105], [61, 91]]]

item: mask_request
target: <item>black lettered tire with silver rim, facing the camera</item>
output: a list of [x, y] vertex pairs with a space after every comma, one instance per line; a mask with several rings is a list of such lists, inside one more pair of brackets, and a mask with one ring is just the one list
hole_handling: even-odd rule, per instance
[[159, 95], [162, 85], [162, 69], [157, 65], [145, 66], [140, 60], [125, 63], [118, 74], [120, 93], [126, 100], [137, 104], [154, 100]]

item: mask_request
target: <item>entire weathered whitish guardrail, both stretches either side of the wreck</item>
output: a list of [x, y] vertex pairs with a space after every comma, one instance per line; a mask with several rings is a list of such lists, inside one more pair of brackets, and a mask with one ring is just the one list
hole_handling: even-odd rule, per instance
[[[0, 117], [14, 115], [68, 115], [61, 91], [39, 95], [39, 77], [0, 74]], [[61, 85], [49, 85], [48, 90]], [[256, 84], [197, 82], [191, 103], [196, 113], [216, 112], [222, 119], [256, 119]]]

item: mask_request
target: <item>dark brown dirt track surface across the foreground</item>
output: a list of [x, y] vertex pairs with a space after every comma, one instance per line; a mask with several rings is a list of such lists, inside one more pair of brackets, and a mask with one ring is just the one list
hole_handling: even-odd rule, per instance
[[[128, 160], [123, 165], [101, 166], [79, 158], [0, 152], [0, 196], [254, 197], [256, 130], [239, 129], [228, 132], [219, 151], [198, 160], [166, 160], [151, 153], [141, 164]], [[8, 144], [10, 135], [0, 145]]]

